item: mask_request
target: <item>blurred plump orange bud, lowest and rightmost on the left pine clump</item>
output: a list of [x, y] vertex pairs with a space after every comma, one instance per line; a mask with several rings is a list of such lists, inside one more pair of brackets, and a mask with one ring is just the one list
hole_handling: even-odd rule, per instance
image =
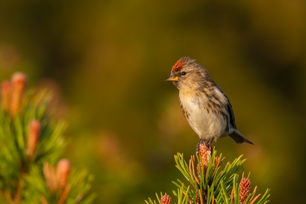
[[56, 176], [57, 176], [57, 181], [62, 188], [66, 186], [69, 172], [70, 172], [70, 161], [68, 159], [61, 159], [57, 163]]

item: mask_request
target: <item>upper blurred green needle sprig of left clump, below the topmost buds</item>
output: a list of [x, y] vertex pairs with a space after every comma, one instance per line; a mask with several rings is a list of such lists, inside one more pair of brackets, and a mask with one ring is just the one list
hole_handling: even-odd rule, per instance
[[[15, 113], [14, 117], [0, 109], [0, 186], [11, 190], [17, 188], [16, 180], [27, 173], [32, 165], [42, 164], [44, 160], [55, 163], [66, 147], [63, 137], [65, 123], [50, 120], [46, 108], [48, 101], [41, 96], [41, 92], [37, 95], [29, 92], [24, 97], [20, 112]], [[31, 103], [32, 100], [38, 101], [38, 97], [42, 98], [41, 103]], [[40, 126], [37, 141], [33, 141], [31, 135], [30, 124], [33, 121]], [[29, 145], [28, 141], [31, 140]]]

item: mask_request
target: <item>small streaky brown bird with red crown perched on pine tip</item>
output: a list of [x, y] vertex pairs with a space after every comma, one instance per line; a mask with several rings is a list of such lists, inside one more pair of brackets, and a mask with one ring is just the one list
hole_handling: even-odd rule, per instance
[[196, 60], [179, 59], [166, 81], [173, 82], [179, 90], [182, 112], [200, 140], [211, 142], [230, 136], [238, 144], [254, 144], [237, 130], [229, 99]]

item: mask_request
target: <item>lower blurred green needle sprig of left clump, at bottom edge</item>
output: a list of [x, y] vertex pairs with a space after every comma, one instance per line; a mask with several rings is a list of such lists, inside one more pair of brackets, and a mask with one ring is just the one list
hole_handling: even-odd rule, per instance
[[48, 168], [54, 170], [48, 175], [51, 177], [48, 179], [55, 182], [53, 184], [46, 181], [45, 172], [42, 172], [38, 166], [33, 166], [29, 175], [25, 177], [25, 203], [90, 204], [96, 197], [95, 194], [88, 194], [93, 177], [87, 171], [79, 172], [72, 169], [65, 185], [60, 186], [56, 168], [54, 166]]

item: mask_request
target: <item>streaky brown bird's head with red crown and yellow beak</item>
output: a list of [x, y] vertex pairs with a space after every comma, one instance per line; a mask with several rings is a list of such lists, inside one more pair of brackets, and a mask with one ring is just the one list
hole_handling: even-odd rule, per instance
[[209, 79], [207, 70], [190, 57], [180, 58], [171, 69], [171, 75], [166, 81], [174, 83], [177, 89], [182, 87], [197, 87]]

